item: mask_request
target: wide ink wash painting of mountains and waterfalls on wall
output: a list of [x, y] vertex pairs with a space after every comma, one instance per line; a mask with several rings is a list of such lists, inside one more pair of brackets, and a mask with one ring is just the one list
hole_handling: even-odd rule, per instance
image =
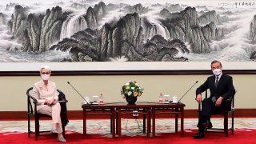
[[248, 62], [255, 34], [253, 1], [0, 3], [0, 62]]

